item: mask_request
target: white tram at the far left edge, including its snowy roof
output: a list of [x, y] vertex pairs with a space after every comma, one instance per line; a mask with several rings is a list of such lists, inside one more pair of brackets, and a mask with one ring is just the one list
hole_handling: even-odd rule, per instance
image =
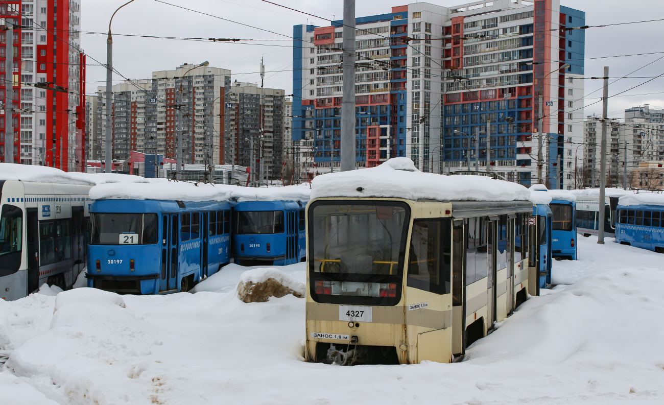
[[0, 163], [0, 298], [72, 287], [86, 266], [90, 187], [120, 181], [145, 179]]

